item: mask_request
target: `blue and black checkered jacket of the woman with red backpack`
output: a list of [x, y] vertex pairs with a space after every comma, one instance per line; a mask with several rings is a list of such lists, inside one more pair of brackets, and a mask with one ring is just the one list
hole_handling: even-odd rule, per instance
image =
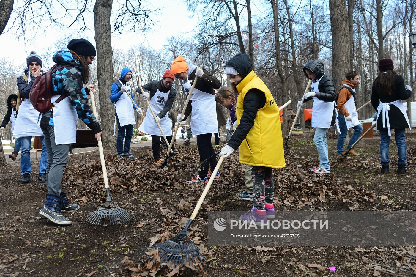
[[[99, 133], [101, 131], [100, 124], [88, 105], [87, 92], [82, 84], [79, 59], [68, 50], [62, 50], [54, 54], [53, 60], [58, 66], [67, 65], [67, 67], [52, 74], [54, 89], [52, 95], [62, 95], [66, 92], [69, 102], [77, 110], [78, 118], [84, 121], [94, 134]], [[41, 123], [54, 125], [51, 111], [42, 114]]]

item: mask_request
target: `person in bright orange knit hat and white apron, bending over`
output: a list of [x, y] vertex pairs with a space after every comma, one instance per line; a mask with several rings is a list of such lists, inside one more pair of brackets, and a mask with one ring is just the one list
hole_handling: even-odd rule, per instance
[[[221, 112], [217, 111], [218, 107], [215, 103], [214, 89], [219, 89], [221, 82], [206, 71], [206, 69], [200, 69], [193, 64], [189, 64], [188, 66], [182, 56], [177, 57], [173, 61], [171, 72], [176, 78], [184, 81], [183, 90], [186, 96], [191, 91], [195, 78], [198, 77], [191, 98], [186, 106], [185, 114], [183, 116], [181, 114], [178, 115], [176, 124], [186, 120], [192, 112], [191, 130], [193, 135], [197, 135], [196, 144], [198, 146], [200, 161], [205, 161], [209, 158], [209, 165], [212, 171], [217, 165], [217, 159], [215, 158], [211, 137], [213, 133], [218, 132], [217, 112]], [[199, 174], [188, 181], [188, 183], [208, 183], [209, 175], [208, 163], [204, 163]], [[215, 178], [220, 178], [219, 172]]]

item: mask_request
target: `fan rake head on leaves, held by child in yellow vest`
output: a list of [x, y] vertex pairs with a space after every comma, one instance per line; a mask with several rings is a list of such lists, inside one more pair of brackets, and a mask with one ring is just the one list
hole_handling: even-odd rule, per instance
[[199, 248], [188, 239], [188, 228], [192, 220], [188, 220], [185, 229], [175, 237], [156, 243], [153, 246], [142, 248], [141, 250], [157, 249], [157, 252], [149, 251], [143, 253], [143, 262], [160, 261], [160, 263], [171, 262], [175, 267], [183, 265], [202, 265], [206, 259], [199, 251]]

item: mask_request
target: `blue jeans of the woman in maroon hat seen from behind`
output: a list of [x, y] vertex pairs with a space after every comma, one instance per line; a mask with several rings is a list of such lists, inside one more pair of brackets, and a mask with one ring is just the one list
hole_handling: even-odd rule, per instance
[[[394, 136], [396, 137], [397, 152], [399, 154], [399, 165], [407, 165], [407, 148], [404, 141], [404, 129], [394, 129]], [[380, 160], [382, 166], [389, 166], [389, 145], [390, 137], [387, 130], [380, 130]]]

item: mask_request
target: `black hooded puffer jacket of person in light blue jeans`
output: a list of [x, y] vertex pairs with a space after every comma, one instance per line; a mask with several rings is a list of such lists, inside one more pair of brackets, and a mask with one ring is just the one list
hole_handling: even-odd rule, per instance
[[[313, 74], [315, 74], [316, 80], [312, 80], [312, 82], [319, 82], [319, 92], [316, 92], [315, 97], [325, 102], [334, 101], [337, 96], [337, 92], [335, 92], [334, 87], [334, 79], [325, 73], [324, 64], [318, 59], [312, 59], [312, 61], [308, 62], [303, 68], [303, 73], [305, 73], [306, 77], [309, 79], [308, 74], [306, 74], [306, 69], [309, 69], [313, 72]], [[321, 77], [322, 79], [319, 81]], [[312, 97], [309, 97], [308, 99], [305, 99], [304, 102], [311, 99]]]

